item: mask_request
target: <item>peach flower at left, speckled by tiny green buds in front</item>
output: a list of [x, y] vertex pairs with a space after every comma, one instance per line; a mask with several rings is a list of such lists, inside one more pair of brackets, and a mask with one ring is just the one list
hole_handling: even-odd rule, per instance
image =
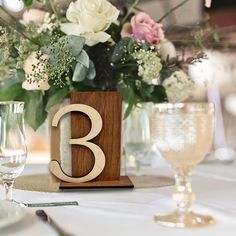
[[[22, 88], [26, 90], [48, 90], [50, 85], [48, 84], [48, 76], [45, 72], [44, 60], [48, 59], [47, 54], [43, 54], [40, 60], [37, 58], [37, 53], [32, 52], [25, 60], [24, 71], [26, 74], [26, 80], [22, 84]], [[35, 75], [40, 74], [40, 79], [35, 78]]]

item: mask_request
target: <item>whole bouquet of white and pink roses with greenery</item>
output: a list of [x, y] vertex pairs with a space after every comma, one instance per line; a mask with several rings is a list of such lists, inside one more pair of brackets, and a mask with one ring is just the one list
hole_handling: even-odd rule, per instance
[[[194, 83], [161, 22], [133, 11], [138, 0], [124, 2], [119, 11], [107, 0], [76, 0], [64, 11], [52, 0], [47, 8], [0, 1], [11, 19], [0, 17], [0, 100], [24, 101], [26, 122], [36, 130], [73, 91], [121, 91], [125, 116], [140, 102], [188, 98]], [[20, 20], [7, 11], [23, 3]]]

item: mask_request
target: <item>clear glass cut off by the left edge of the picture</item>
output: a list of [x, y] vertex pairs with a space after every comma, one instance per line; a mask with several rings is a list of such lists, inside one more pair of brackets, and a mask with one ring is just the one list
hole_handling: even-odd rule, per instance
[[23, 113], [23, 102], [0, 102], [0, 176], [7, 201], [13, 201], [14, 179], [21, 174], [26, 162]]

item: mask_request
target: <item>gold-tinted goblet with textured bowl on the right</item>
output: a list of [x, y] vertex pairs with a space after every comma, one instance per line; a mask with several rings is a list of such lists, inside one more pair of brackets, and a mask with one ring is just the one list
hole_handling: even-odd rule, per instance
[[200, 227], [214, 223], [211, 216], [197, 214], [190, 207], [194, 201], [192, 169], [212, 146], [214, 105], [212, 103], [157, 104], [152, 115], [156, 123], [153, 139], [175, 172], [177, 209], [169, 215], [156, 215], [155, 221], [169, 227]]

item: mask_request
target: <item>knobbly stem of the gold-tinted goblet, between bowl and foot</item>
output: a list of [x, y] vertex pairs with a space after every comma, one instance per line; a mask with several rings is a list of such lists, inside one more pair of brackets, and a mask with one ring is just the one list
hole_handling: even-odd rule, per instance
[[190, 168], [176, 171], [175, 186], [176, 192], [173, 194], [173, 199], [177, 205], [177, 211], [180, 214], [185, 214], [190, 211], [190, 207], [194, 201], [194, 194], [191, 187], [192, 171]]

